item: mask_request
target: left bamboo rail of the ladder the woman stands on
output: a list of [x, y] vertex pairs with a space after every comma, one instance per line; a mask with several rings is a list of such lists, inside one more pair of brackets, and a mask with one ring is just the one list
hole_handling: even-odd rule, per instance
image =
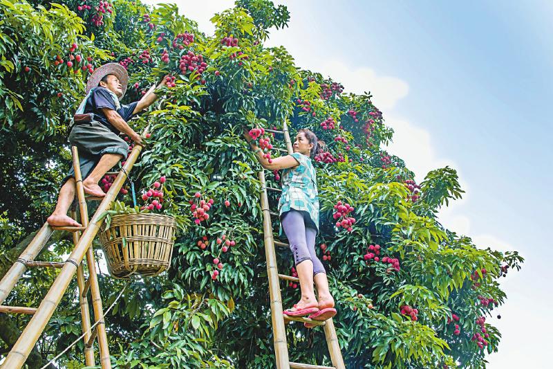
[[[265, 172], [259, 172], [261, 187], [265, 188]], [[272, 224], [269, 214], [269, 199], [267, 190], [261, 192], [261, 211], [263, 212], [263, 234], [265, 240], [265, 258], [267, 258], [267, 276], [269, 278], [269, 294], [271, 300], [271, 319], [274, 343], [274, 356], [277, 369], [290, 369], [288, 346], [286, 345], [286, 331], [282, 314], [282, 298], [277, 269], [277, 253], [274, 251], [272, 239]]]

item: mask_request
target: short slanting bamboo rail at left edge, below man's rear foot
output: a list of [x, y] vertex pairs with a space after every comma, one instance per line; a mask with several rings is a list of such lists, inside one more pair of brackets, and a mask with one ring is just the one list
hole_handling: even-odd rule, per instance
[[[48, 225], [48, 223], [44, 223], [44, 226], [40, 228], [40, 230], [35, 235], [35, 238], [32, 239], [30, 244], [28, 244], [27, 248], [21, 255], [19, 256], [20, 260], [35, 260], [37, 255], [42, 251], [42, 248], [50, 240], [50, 236], [53, 233], [53, 229]], [[8, 297], [8, 294], [12, 291], [13, 287], [15, 287], [17, 281], [23, 273], [27, 270], [26, 265], [23, 262], [15, 262], [10, 270], [8, 270], [8, 273], [6, 273], [5, 276], [3, 276], [2, 280], [0, 281], [0, 304], [6, 300]]]

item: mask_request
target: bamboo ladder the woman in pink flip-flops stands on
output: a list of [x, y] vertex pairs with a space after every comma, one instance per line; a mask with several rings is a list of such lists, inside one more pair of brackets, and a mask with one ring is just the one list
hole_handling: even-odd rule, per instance
[[[283, 134], [286, 143], [286, 150], [281, 150], [292, 154], [292, 142], [288, 133], [288, 125], [283, 122], [283, 130], [265, 129], [274, 134]], [[341, 357], [340, 346], [332, 318], [327, 321], [314, 321], [302, 316], [287, 316], [283, 314], [281, 289], [279, 279], [298, 282], [299, 278], [279, 274], [277, 269], [277, 253], [274, 246], [289, 247], [284, 242], [275, 241], [273, 238], [271, 215], [278, 217], [277, 213], [272, 213], [269, 209], [269, 198], [267, 190], [282, 192], [277, 188], [267, 187], [265, 184], [265, 170], [259, 172], [261, 181], [261, 210], [263, 213], [263, 234], [265, 240], [265, 258], [267, 259], [267, 276], [269, 278], [269, 293], [271, 302], [272, 333], [274, 342], [274, 353], [277, 361], [277, 369], [345, 369], [344, 359]], [[312, 323], [313, 325], [323, 325], [326, 336], [326, 344], [330, 353], [332, 366], [316, 366], [303, 363], [294, 363], [288, 359], [288, 345], [286, 343], [285, 323], [289, 321], [299, 321], [303, 323]]]

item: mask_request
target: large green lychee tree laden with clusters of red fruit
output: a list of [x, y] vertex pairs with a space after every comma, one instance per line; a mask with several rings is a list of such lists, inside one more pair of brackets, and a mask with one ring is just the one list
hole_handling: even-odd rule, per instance
[[[131, 177], [139, 206], [144, 201], [152, 204], [147, 190], [157, 188], [153, 184], [160, 177], [167, 179], [162, 197], [155, 200], [156, 206], [163, 206], [150, 211], [176, 216], [180, 231], [169, 272], [132, 280], [106, 318], [116, 366], [274, 366], [261, 186], [256, 176], [261, 168], [241, 136], [244, 128], [256, 129], [265, 154], [278, 156], [276, 149], [283, 147], [279, 136], [263, 129], [278, 129], [285, 120], [292, 133], [309, 128], [327, 144], [326, 152], [314, 159], [321, 204], [317, 246], [337, 300], [335, 325], [346, 366], [485, 366], [485, 353], [496, 352], [500, 340], [491, 324], [492, 310], [505, 303], [498, 279], [508, 269], [518, 269], [522, 258], [516, 252], [478, 249], [469, 237], [440, 224], [440, 207], [462, 195], [456, 171], [436, 169], [416, 183], [404, 161], [383, 150], [393, 131], [386, 127], [370, 93], [344, 93], [339, 82], [295, 66], [285, 48], [264, 46], [270, 28], [287, 25], [285, 7], [274, 7], [267, 0], [236, 1], [235, 8], [212, 18], [216, 31], [207, 36], [193, 20], [179, 15], [176, 6], [149, 7], [121, 0], [63, 4], [45, 3], [41, 8], [24, 1], [13, 7], [0, 3], [10, 17], [0, 35], [21, 29], [28, 32], [29, 42], [48, 39], [48, 34], [16, 22], [21, 16], [18, 7], [25, 9], [26, 17], [54, 12], [73, 19], [73, 36], [60, 37], [53, 51], [50, 46], [28, 50], [20, 46], [6, 58], [14, 62], [24, 57], [32, 72], [25, 72], [23, 64], [23, 69], [0, 69], [3, 96], [18, 98], [25, 91], [32, 97], [35, 85], [46, 91], [61, 86], [50, 96], [55, 100], [62, 93], [65, 99], [63, 105], [35, 107], [38, 117], [48, 115], [49, 120], [30, 122], [15, 105], [3, 113], [3, 132], [21, 137], [19, 150], [40, 147], [11, 163], [10, 172], [3, 172], [14, 174], [1, 182], [3, 193], [11, 187], [24, 192], [34, 186], [46, 192], [41, 204], [53, 201], [68, 154], [49, 153], [62, 143], [59, 134], [82, 98], [91, 69], [108, 60], [124, 65], [130, 77], [128, 101], [169, 75], [157, 106], [132, 123], [150, 125], [151, 136]], [[68, 25], [40, 19], [52, 28]], [[68, 66], [68, 60], [75, 64]], [[55, 62], [57, 68], [52, 68]], [[73, 82], [60, 82], [70, 69], [67, 78]], [[25, 74], [18, 77], [22, 73], [34, 74], [32, 79]], [[24, 98], [19, 101], [27, 103]], [[279, 186], [279, 177], [279, 172], [268, 172], [270, 186]], [[27, 201], [24, 206], [35, 213], [32, 221], [21, 224], [20, 214], [10, 212], [10, 197], [1, 199], [0, 210], [8, 210], [3, 228], [19, 232], [3, 241], [10, 259], [17, 255], [11, 251], [25, 244], [29, 238], [25, 236], [41, 224], [48, 208], [41, 213], [39, 204], [31, 205], [36, 196], [22, 196]], [[275, 200], [271, 198], [272, 204]], [[131, 204], [131, 193], [121, 194], [120, 201]], [[277, 231], [279, 224], [273, 226]], [[45, 257], [59, 260], [69, 244], [55, 240], [52, 247], [59, 252]], [[293, 274], [289, 252], [278, 253], [279, 270]], [[37, 300], [53, 277], [40, 280], [33, 274], [35, 281], [40, 280]], [[9, 303], [24, 303], [29, 285], [21, 285]], [[104, 305], [109, 305], [124, 282], [103, 276], [101, 287]], [[285, 305], [292, 305], [298, 286], [282, 287]], [[78, 327], [74, 323], [78, 320], [75, 301], [68, 296], [39, 341], [42, 359], [78, 336], [78, 328], [67, 329], [71, 324]], [[24, 321], [9, 323], [21, 328]], [[0, 331], [2, 324], [0, 320]], [[330, 364], [320, 328], [292, 324], [287, 332], [294, 361]], [[5, 348], [12, 344], [0, 339]], [[76, 361], [82, 361], [82, 347], [70, 350], [60, 363], [68, 366]]]

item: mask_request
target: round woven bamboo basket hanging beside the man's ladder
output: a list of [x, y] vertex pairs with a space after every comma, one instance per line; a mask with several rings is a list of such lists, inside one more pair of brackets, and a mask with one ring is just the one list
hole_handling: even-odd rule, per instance
[[100, 242], [115, 278], [157, 276], [169, 269], [176, 221], [160, 214], [116, 214], [100, 226]]

